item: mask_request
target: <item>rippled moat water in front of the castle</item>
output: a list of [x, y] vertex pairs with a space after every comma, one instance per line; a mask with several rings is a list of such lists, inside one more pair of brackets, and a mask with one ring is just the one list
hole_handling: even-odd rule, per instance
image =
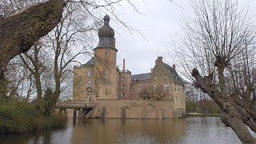
[[219, 118], [69, 119], [64, 130], [0, 136], [0, 143], [241, 143]]

